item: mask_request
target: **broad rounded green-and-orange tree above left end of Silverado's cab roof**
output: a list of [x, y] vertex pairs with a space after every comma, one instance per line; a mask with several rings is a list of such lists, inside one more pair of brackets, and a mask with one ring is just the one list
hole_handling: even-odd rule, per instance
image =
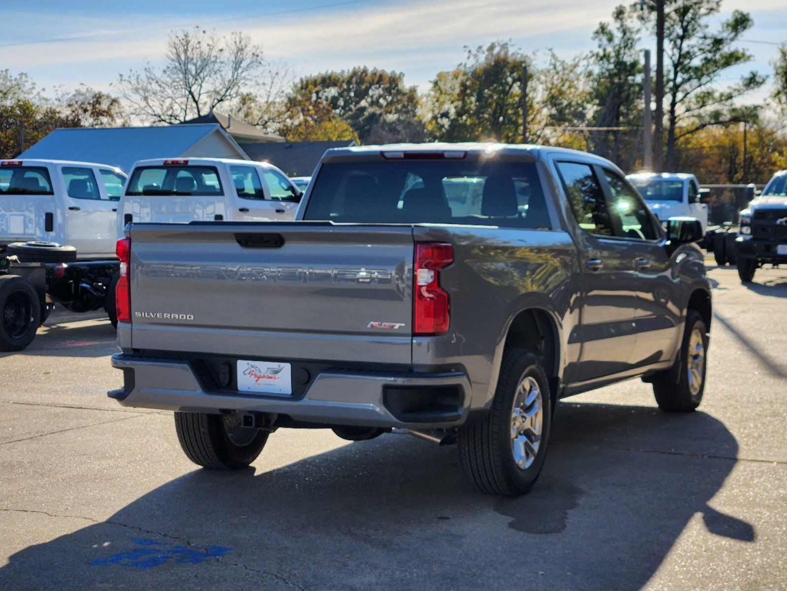
[[298, 80], [284, 100], [282, 132], [345, 121], [363, 143], [423, 141], [416, 87], [404, 74], [359, 66]]

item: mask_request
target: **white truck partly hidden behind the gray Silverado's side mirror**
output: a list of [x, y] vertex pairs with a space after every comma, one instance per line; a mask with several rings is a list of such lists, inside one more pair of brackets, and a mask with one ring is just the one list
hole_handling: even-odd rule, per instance
[[693, 174], [637, 173], [626, 178], [662, 223], [671, 217], [694, 217], [702, 224], [703, 233], [708, 229], [707, 189], [700, 189]]

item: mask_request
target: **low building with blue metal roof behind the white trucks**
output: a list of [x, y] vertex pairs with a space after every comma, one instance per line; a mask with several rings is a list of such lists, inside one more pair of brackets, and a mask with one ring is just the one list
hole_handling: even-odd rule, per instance
[[235, 139], [216, 123], [161, 127], [61, 128], [17, 158], [79, 160], [129, 172], [148, 158], [235, 158], [249, 160]]

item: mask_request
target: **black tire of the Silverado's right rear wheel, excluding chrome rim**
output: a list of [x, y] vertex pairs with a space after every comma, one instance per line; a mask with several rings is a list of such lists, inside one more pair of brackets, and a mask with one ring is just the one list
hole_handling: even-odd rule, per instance
[[[517, 388], [527, 378], [532, 378], [541, 392], [541, 437], [530, 464], [520, 467], [515, 459], [512, 422]], [[541, 473], [551, 423], [549, 380], [538, 357], [522, 348], [506, 351], [490, 413], [482, 420], [462, 427], [456, 434], [465, 476], [486, 494], [524, 494]]]

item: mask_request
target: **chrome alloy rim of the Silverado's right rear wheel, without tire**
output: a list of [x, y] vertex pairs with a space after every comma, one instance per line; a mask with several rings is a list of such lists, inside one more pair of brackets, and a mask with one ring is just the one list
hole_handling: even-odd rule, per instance
[[538, 455], [543, 422], [541, 388], [534, 377], [524, 377], [516, 387], [511, 411], [511, 451], [514, 462], [522, 470], [527, 470]]

